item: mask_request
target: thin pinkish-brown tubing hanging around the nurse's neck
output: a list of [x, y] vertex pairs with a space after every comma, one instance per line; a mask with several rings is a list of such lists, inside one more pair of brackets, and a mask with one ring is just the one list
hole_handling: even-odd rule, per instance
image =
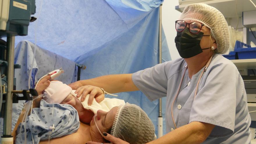
[[[194, 100], [195, 100], [195, 96], [196, 96], [196, 94], [197, 94], [199, 82], [200, 82], [200, 80], [201, 80], [201, 78], [202, 78], [204, 72], [207, 70], [208, 66], [210, 65], [210, 62], [211, 62], [212, 57], [213, 57], [213, 55], [211, 56], [211, 58], [209, 59], [209, 61], [208, 61], [207, 64], [205, 65], [204, 70], [201, 72], [200, 78], [199, 78], [199, 80], [198, 80], [198, 82], [197, 82], [197, 85], [196, 85], [196, 88], [195, 88]], [[181, 84], [182, 84], [182, 81], [183, 81], [183, 78], [184, 78], [184, 76], [185, 76], [185, 73], [186, 73], [186, 70], [187, 70], [187, 69], [188, 69], [188, 67], [187, 67], [187, 65], [186, 65], [186, 66], [185, 66], [185, 70], [184, 70], [184, 74], [183, 74], [182, 79], [181, 79], [181, 81], [180, 81], [180, 83], [179, 83], [179, 88], [178, 88], [177, 93], [176, 93], [176, 95], [175, 95], [175, 98], [174, 98], [174, 100], [173, 100], [173, 104], [174, 104], [176, 98], [178, 97], [179, 90], [180, 90], [180, 87], [181, 87]], [[172, 119], [173, 119], [173, 124], [174, 124], [174, 126], [175, 126], [175, 129], [177, 129], [177, 126], [176, 126], [176, 124], [175, 124], [175, 120], [174, 120], [174, 117], [173, 117], [173, 104], [172, 104]]]

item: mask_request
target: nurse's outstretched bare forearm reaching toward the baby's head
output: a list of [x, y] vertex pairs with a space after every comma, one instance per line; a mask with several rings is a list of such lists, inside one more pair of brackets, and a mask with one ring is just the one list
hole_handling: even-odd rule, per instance
[[132, 74], [113, 74], [79, 81], [83, 86], [92, 85], [103, 88], [108, 93], [139, 90], [133, 83]]

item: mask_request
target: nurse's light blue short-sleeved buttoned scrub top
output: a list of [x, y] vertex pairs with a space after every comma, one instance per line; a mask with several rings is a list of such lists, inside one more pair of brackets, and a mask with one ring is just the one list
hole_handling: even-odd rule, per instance
[[[171, 106], [182, 79], [186, 61], [168, 61], [132, 75], [134, 84], [151, 100], [166, 97], [166, 131], [175, 128]], [[177, 127], [193, 121], [216, 125], [204, 143], [250, 143], [251, 118], [248, 113], [244, 83], [237, 67], [220, 54], [215, 54], [203, 74], [198, 93], [195, 88], [203, 68], [192, 76], [187, 72], [173, 105]]]

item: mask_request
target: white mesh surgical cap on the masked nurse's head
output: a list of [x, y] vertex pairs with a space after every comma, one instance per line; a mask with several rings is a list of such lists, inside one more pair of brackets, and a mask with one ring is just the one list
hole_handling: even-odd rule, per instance
[[181, 20], [201, 22], [211, 30], [211, 36], [216, 40], [215, 52], [224, 54], [230, 45], [230, 33], [225, 17], [216, 8], [205, 3], [195, 3], [185, 7]]

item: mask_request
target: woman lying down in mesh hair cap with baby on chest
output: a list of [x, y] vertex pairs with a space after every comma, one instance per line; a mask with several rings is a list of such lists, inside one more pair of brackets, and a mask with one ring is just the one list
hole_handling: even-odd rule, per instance
[[[42, 94], [42, 92], [49, 86], [50, 83], [48, 79], [50, 79], [49, 76], [43, 78], [38, 83], [38, 86], [36, 88], [36, 90], [38, 91], [38, 94]], [[61, 82], [59, 85], [61, 85]], [[62, 88], [64, 88], [64, 86]], [[55, 91], [54, 93], [58, 93], [58, 90]], [[65, 93], [61, 93], [61, 94], [65, 95]], [[51, 98], [53, 98], [54, 96], [56, 97], [57, 95], [52, 95]], [[26, 125], [26, 131], [27, 131], [26, 134], [27, 136], [29, 136], [27, 137], [27, 143], [32, 143], [32, 140], [31, 140], [32, 139], [31, 135], [32, 135], [34, 139], [33, 141], [35, 144], [39, 143], [39, 141], [40, 141], [40, 144], [41, 143], [47, 144], [48, 140], [45, 140], [45, 139], [48, 139], [48, 137], [45, 135], [49, 135], [49, 134], [51, 135], [51, 138], [52, 138], [50, 140], [52, 144], [54, 143], [84, 144], [88, 141], [104, 143], [104, 142], [107, 142], [103, 138], [103, 132], [105, 131], [109, 133], [111, 132], [113, 136], [117, 138], [121, 138], [125, 141], [129, 141], [130, 143], [147, 143], [149, 141], [154, 140], [153, 123], [148, 118], [147, 114], [140, 107], [134, 104], [126, 103], [125, 105], [113, 107], [108, 112], [98, 110], [97, 114], [94, 115], [93, 117], [91, 117], [92, 112], [86, 109], [83, 109], [81, 102], [71, 94], [69, 94], [61, 102], [61, 105], [58, 105], [56, 103], [53, 103], [53, 104], [54, 104], [55, 113], [52, 115], [49, 115], [48, 112], [45, 112], [45, 111], [52, 112], [51, 104], [40, 99], [36, 99], [34, 101], [33, 107], [36, 108], [40, 106], [40, 109], [38, 108], [33, 109], [32, 114], [29, 116], [29, 119], [25, 120], [25, 122], [26, 121], [28, 122], [26, 123], [23, 122]], [[70, 108], [70, 106], [68, 106], [67, 104], [70, 104], [73, 107]], [[74, 126], [70, 126], [72, 125], [70, 124], [70, 122], [77, 123], [76, 120], [75, 121], [72, 120], [72, 117], [73, 119], [78, 119], [78, 115], [74, 114], [74, 113], [77, 113], [74, 110], [74, 108], [77, 110], [79, 115], [79, 120], [80, 120], [80, 127], [78, 129], [77, 129], [77, 124], [75, 124]], [[43, 111], [41, 112], [40, 110], [43, 110]], [[43, 116], [42, 116], [42, 113], [44, 113]], [[63, 114], [65, 113], [65, 114], [63, 115], [63, 117], [61, 116], [61, 119], [60, 119], [60, 114], [62, 113]], [[21, 115], [18, 119], [18, 122], [15, 126], [14, 132], [12, 134], [17, 139], [16, 143], [24, 143], [24, 141], [22, 141], [24, 138], [24, 134], [23, 134], [24, 132], [22, 134], [19, 133], [16, 137], [16, 130], [19, 123], [21, 123], [23, 115], [24, 115], [24, 111], [22, 110]], [[54, 118], [54, 124], [56, 127], [55, 129], [53, 129], [54, 130], [53, 133], [51, 132], [49, 127], [49, 124], [51, 123], [51, 118]], [[89, 124], [84, 122], [89, 122]], [[79, 126], [79, 123], [78, 123], [78, 126]], [[35, 132], [35, 127], [39, 127], [38, 129], [36, 129], [36, 132]], [[69, 135], [66, 135], [67, 131]], [[63, 136], [64, 135], [63, 133], [65, 133], [65, 136]], [[42, 139], [45, 141], [43, 141]]]

